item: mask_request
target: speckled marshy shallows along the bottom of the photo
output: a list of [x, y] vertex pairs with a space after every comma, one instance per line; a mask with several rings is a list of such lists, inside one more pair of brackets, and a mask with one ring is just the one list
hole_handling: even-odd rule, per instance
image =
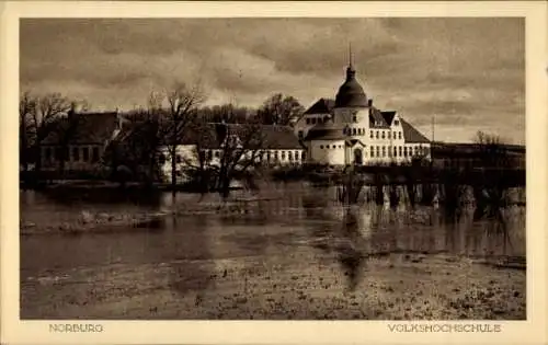
[[21, 318], [526, 319], [525, 269], [392, 253], [367, 257], [350, 290], [349, 274], [329, 256], [294, 248], [261, 257], [112, 264], [31, 277], [21, 283]]

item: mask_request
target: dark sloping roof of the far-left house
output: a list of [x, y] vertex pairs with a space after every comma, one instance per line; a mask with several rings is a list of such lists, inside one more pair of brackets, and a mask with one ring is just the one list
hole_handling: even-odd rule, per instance
[[59, 145], [60, 141], [67, 140], [65, 143], [69, 145], [104, 145], [112, 138], [117, 126], [116, 112], [71, 114], [55, 123], [43, 143]]

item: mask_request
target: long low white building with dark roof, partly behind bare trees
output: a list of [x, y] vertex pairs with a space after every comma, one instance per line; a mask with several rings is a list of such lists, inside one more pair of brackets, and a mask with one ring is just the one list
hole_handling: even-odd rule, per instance
[[[231, 143], [229, 143], [229, 141]], [[199, 137], [190, 135], [176, 148], [176, 175], [184, 180], [189, 166], [219, 166], [224, 151], [240, 154], [241, 164], [250, 159], [263, 165], [298, 165], [306, 160], [306, 149], [288, 126], [261, 125], [258, 128], [237, 124], [214, 124]], [[198, 153], [201, 152], [201, 153]], [[161, 148], [160, 171], [164, 180], [171, 179], [171, 160], [167, 147]]]

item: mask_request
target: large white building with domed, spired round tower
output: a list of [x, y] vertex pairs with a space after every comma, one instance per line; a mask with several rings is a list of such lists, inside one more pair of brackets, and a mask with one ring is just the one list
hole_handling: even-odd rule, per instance
[[344, 165], [403, 162], [430, 154], [430, 141], [397, 112], [379, 111], [356, 80], [352, 61], [335, 100], [320, 99], [297, 120], [295, 131], [309, 162]]

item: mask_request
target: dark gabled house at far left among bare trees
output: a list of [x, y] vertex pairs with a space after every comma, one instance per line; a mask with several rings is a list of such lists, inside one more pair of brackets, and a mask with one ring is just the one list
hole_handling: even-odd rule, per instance
[[56, 170], [62, 160], [67, 171], [94, 171], [105, 148], [121, 129], [117, 112], [70, 113], [59, 118], [41, 145], [42, 169]]

